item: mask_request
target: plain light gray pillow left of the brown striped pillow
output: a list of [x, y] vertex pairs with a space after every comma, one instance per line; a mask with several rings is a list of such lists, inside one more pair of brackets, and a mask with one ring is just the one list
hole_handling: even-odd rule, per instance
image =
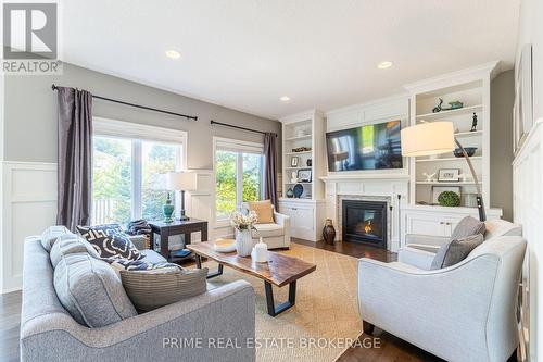
[[53, 283], [62, 305], [83, 325], [104, 327], [138, 314], [113, 269], [86, 252], [62, 255]]

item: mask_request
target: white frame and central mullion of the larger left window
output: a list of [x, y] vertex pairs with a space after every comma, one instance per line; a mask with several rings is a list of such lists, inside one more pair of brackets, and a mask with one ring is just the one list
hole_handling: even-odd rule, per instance
[[[131, 140], [131, 219], [141, 219], [142, 216], [142, 141], [154, 141], [163, 143], [173, 143], [179, 146], [179, 164], [176, 164], [175, 171], [186, 170], [188, 137], [187, 132], [165, 127], [150, 126], [139, 123], [125, 122], [105, 117], [92, 117], [92, 137], [112, 137]], [[175, 200], [179, 200], [178, 197]]]

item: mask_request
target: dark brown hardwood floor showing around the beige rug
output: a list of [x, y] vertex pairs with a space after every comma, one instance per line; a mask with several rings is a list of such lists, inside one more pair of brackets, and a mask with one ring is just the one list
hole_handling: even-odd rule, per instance
[[[293, 242], [312, 246], [354, 258], [371, 258], [383, 262], [396, 260], [396, 254], [383, 249], [358, 245], [355, 242], [337, 242], [333, 246], [323, 241], [312, 242], [293, 239]], [[21, 321], [21, 291], [0, 295], [0, 361], [18, 361], [18, 333]], [[379, 338], [379, 348], [362, 348], [369, 341], [367, 338]], [[363, 334], [359, 344], [351, 347], [339, 359], [339, 362], [433, 362], [443, 361], [391, 334], [376, 327], [372, 336]], [[509, 362], [516, 361], [510, 359]]]

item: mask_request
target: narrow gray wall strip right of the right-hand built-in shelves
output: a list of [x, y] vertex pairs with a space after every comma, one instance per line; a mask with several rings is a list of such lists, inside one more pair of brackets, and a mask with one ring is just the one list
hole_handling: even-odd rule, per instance
[[502, 208], [503, 219], [513, 221], [513, 103], [514, 71], [497, 75], [490, 89], [490, 197], [491, 207]]

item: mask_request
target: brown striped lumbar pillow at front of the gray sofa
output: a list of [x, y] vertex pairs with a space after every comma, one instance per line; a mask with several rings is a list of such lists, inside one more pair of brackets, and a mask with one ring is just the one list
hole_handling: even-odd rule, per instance
[[137, 310], [147, 312], [207, 290], [207, 269], [121, 271], [126, 294]]

